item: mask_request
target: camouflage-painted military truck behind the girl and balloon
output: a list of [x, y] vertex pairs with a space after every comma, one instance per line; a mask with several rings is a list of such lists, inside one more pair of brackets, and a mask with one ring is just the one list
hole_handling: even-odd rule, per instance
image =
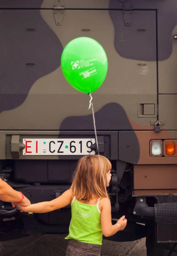
[[[69, 41], [94, 38], [108, 56], [92, 95], [99, 150], [112, 163], [112, 218], [128, 218], [110, 239], [146, 236], [148, 256], [177, 253], [176, 12], [176, 0], [0, 0], [0, 177], [31, 203], [49, 201], [82, 155], [97, 154], [89, 98], [60, 66]], [[70, 212], [0, 202], [1, 239], [67, 233]]]

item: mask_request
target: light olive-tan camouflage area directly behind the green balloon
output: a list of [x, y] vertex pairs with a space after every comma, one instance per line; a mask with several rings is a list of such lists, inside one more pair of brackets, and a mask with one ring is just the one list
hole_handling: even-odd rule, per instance
[[[41, 7], [47, 6], [46, 3], [47, 1], [43, 1]], [[67, 1], [65, 3], [67, 6]], [[107, 8], [108, 1], [103, 3]], [[33, 10], [29, 11], [33, 12]], [[116, 12], [117, 15], [122, 15], [122, 11]], [[114, 48], [114, 26], [108, 10], [65, 10], [61, 26], [56, 25], [53, 10], [41, 9], [40, 15], [51, 31], [57, 35], [62, 47], [65, 47], [73, 38], [84, 35], [96, 39], [106, 49], [109, 58], [108, 76], [100, 90], [93, 95], [95, 112], [112, 102], [115, 103], [114, 105], [120, 105], [121, 107], [118, 106], [117, 108], [123, 108], [128, 118], [131, 117], [135, 123], [153, 129], [150, 125], [150, 119], [156, 119], [156, 114], [152, 117], [143, 116], [139, 118], [137, 116], [137, 106], [138, 102], [153, 102], [156, 108], [156, 63], [147, 61], [147, 66], [142, 67], [137, 65], [141, 61], [127, 61], [127, 59], [117, 54]], [[74, 20], [74, 22], [71, 22], [71, 20]], [[97, 22], [97, 20], [100, 20], [100, 22]], [[90, 28], [91, 31], [89, 33], [83, 32], [83, 28]], [[152, 29], [155, 32], [155, 27]], [[71, 128], [63, 126], [64, 119], [69, 116], [88, 116], [91, 112], [88, 112], [87, 108], [88, 97], [74, 90], [66, 82], [61, 68], [58, 67], [54, 72], [34, 82], [23, 104], [18, 108], [0, 114], [1, 129], [60, 130], [62, 128], [69, 130], [72, 129], [72, 125]], [[123, 116], [119, 115], [118, 118], [119, 127], [131, 130], [131, 127], [128, 127], [124, 122]], [[84, 124], [81, 124], [81, 126], [84, 126]], [[115, 126], [117, 125], [111, 122], [109, 126], [107, 125], [107, 128], [111, 130]]]

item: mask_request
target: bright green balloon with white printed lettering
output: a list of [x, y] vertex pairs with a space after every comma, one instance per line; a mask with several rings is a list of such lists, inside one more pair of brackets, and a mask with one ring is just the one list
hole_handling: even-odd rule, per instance
[[80, 37], [66, 45], [61, 56], [61, 68], [66, 80], [75, 89], [92, 93], [106, 78], [108, 59], [96, 40]]

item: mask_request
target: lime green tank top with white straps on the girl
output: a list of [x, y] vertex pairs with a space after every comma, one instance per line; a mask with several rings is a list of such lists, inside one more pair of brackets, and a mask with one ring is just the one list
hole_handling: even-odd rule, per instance
[[97, 204], [83, 204], [74, 196], [71, 202], [71, 222], [69, 235], [65, 239], [74, 239], [88, 244], [102, 245], [103, 233], [100, 221], [100, 198]]

